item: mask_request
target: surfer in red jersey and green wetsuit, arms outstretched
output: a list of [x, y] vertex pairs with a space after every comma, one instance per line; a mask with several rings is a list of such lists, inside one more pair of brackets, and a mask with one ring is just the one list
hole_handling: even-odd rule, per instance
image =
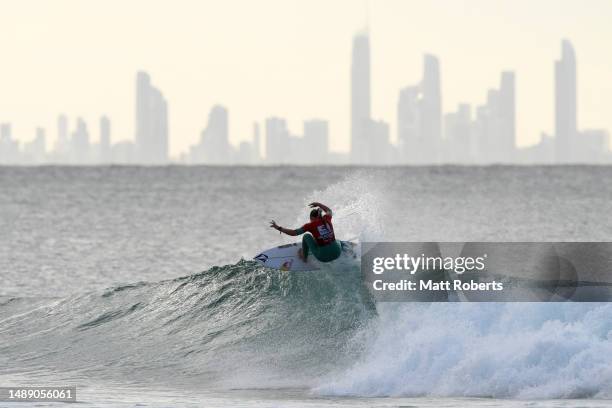
[[[306, 262], [310, 252], [321, 262], [331, 262], [342, 253], [340, 243], [336, 241], [334, 226], [332, 225], [332, 210], [321, 203], [310, 203], [310, 222], [297, 229], [283, 228], [270, 221], [270, 228], [291, 235], [302, 235], [302, 248], [299, 249], [299, 257]], [[325, 212], [325, 214], [323, 214]]]

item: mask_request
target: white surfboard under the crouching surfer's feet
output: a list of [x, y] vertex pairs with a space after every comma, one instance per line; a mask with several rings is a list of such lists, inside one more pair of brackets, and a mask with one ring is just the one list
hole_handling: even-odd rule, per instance
[[[355, 243], [350, 241], [340, 241], [342, 245], [342, 253], [348, 254], [354, 258], [357, 257], [353, 247]], [[304, 262], [298, 256], [298, 250], [302, 247], [301, 242], [293, 244], [281, 245], [275, 248], [263, 251], [253, 259], [266, 268], [278, 269], [280, 271], [317, 271], [321, 269], [320, 262], [315, 259], [312, 254], [308, 256], [308, 261]]]

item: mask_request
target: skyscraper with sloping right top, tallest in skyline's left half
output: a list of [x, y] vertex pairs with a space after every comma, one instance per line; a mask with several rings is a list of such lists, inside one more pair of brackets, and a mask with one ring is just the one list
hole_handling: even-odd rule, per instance
[[168, 104], [146, 72], [136, 75], [136, 151], [138, 161], [168, 161]]

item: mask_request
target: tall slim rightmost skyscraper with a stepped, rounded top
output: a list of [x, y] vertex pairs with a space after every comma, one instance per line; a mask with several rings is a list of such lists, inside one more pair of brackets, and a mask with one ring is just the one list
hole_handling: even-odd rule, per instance
[[568, 40], [561, 42], [561, 59], [555, 61], [555, 159], [572, 161], [577, 133], [576, 54]]

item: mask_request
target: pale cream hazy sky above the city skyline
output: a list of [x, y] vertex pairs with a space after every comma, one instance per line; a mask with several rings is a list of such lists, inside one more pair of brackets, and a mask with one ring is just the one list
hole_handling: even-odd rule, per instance
[[[370, 0], [372, 113], [396, 137], [399, 89], [422, 54], [441, 62], [444, 111], [480, 104], [500, 72], [516, 71], [519, 145], [553, 128], [553, 63], [566, 37], [578, 61], [578, 125], [612, 130], [612, 1]], [[253, 121], [330, 121], [349, 146], [351, 41], [366, 22], [359, 0], [0, 0], [0, 122], [29, 140], [56, 138], [56, 117], [82, 116], [92, 139], [112, 120], [113, 142], [134, 135], [136, 71], [169, 102], [173, 156], [195, 143], [215, 103], [230, 139]], [[71, 126], [74, 121], [71, 122]]]

